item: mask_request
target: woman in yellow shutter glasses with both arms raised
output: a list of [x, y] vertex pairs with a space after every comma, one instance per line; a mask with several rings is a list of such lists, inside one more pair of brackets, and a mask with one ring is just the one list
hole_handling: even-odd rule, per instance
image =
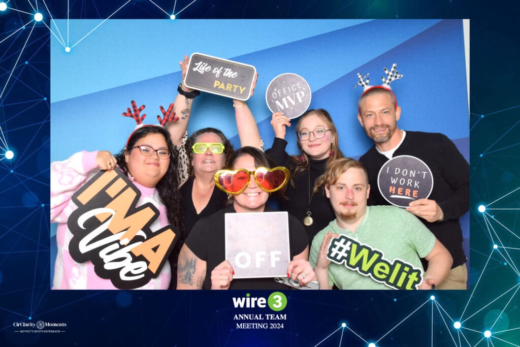
[[[222, 209], [227, 201], [227, 194], [219, 190], [213, 181], [213, 175], [224, 168], [229, 157], [233, 153], [233, 147], [222, 131], [206, 127], [200, 129], [189, 137], [187, 136], [188, 121], [190, 118], [193, 98], [200, 94], [199, 91], [188, 88], [184, 84], [186, 69], [189, 66], [188, 56], [179, 62], [183, 72], [183, 82], [177, 88], [178, 95], [175, 105], [183, 105], [179, 113], [179, 120], [168, 122], [166, 128], [170, 131], [172, 142], [179, 149], [179, 172], [181, 178], [180, 195], [183, 206], [183, 228], [170, 256], [170, 263], [175, 268], [177, 256], [184, 240], [191, 228], [199, 219], [209, 216]], [[256, 80], [253, 83], [251, 96], [253, 95]], [[238, 135], [242, 146], [262, 148], [262, 139], [258, 132], [256, 121], [245, 101], [233, 100], [235, 119]], [[171, 289], [175, 289], [175, 279], [172, 280]]]

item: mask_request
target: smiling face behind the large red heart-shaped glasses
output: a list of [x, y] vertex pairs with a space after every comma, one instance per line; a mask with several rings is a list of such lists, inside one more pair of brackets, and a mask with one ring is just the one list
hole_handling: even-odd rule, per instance
[[[235, 160], [232, 170], [245, 169], [255, 171], [255, 160], [249, 154], [244, 154]], [[255, 182], [253, 175], [249, 176], [248, 187], [243, 192], [235, 195], [233, 206], [237, 212], [263, 212], [269, 193], [263, 191]]]

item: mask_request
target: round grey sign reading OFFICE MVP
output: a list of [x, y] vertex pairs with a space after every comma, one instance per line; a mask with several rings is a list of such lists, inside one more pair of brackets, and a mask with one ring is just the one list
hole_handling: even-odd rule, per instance
[[271, 112], [283, 112], [290, 119], [300, 117], [310, 106], [307, 81], [295, 73], [276, 76], [267, 86], [265, 100]]

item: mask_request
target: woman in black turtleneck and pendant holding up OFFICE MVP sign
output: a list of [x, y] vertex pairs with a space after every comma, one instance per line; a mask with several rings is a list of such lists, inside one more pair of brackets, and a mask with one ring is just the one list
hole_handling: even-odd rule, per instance
[[300, 154], [290, 156], [285, 151], [285, 131], [291, 126], [291, 120], [282, 112], [275, 112], [271, 126], [275, 139], [266, 153], [277, 165], [287, 166], [291, 171], [291, 182], [285, 191], [288, 199], [279, 199], [280, 209], [288, 211], [305, 225], [310, 245], [314, 236], [335, 219], [329, 199], [322, 190], [314, 192], [314, 184], [325, 172], [329, 160], [343, 157], [337, 130], [329, 112], [308, 110], [300, 117], [295, 129]]

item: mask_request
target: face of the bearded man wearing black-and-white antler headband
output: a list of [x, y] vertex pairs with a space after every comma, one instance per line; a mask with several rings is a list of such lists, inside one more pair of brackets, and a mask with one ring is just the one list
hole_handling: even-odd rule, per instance
[[375, 145], [383, 150], [397, 146], [401, 139], [400, 132], [396, 132], [401, 108], [395, 106], [392, 95], [384, 92], [366, 95], [359, 106], [359, 123]]

